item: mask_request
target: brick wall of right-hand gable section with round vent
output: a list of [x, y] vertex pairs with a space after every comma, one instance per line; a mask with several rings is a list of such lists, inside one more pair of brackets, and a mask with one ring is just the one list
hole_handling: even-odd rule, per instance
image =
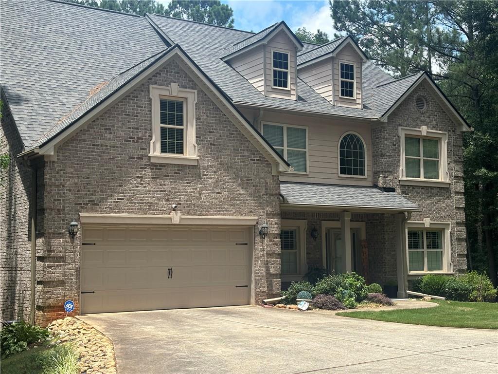
[[[415, 99], [422, 95], [426, 109], [420, 112]], [[448, 133], [448, 172], [450, 187], [420, 187], [399, 185], [399, 127], [420, 128]], [[451, 249], [453, 270], [467, 270], [465, 230], [465, 202], [463, 184], [462, 134], [436, 100], [427, 83], [417, 87], [389, 116], [387, 123], [372, 130], [373, 183], [395, 187], [396, 191], [417, 203], [421, 212], [413, 213], [411, 220], [430, 218], [432, 221], [451, 222]]]

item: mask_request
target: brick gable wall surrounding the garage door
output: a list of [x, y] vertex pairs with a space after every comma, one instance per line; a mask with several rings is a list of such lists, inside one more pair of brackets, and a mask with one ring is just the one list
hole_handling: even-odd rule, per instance
[[[179, 83], [197, 90], [198, 166], [151, 164], [149, 85]], [[258, 216], [270, 233], [262, 243], [254, 230], [256, 301], [280, 291], [278, 177], [247, 140], [176, 62], [170, 62], [57, 149], [44, 169], [44, 244], [36, 319], [62, 315], [67, 298], [76, 301], [80, 279], [80, 234], [67, 227], [79, 213]]]

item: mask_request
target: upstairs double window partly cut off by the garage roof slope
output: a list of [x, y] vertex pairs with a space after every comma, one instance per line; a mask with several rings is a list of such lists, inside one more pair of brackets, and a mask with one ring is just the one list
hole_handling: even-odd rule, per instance
[[263, 136], [294, 168], [308, 172], [308, 130], [306, 127], [263, 123]]

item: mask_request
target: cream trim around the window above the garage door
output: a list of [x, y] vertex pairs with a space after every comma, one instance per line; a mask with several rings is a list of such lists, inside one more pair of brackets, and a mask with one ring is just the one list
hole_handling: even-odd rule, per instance
[[[197, 165], [197, 144], [195, 140], [195, 104], [197, 91], [179, 88], [178, 83], [169, 86], [150, 85], [152, 100], [152, 140], [150, 141], [150, 162], [160, 164]], [[161, 153], [160, 99], [182, 100], [184, 102], [183, 155]]]

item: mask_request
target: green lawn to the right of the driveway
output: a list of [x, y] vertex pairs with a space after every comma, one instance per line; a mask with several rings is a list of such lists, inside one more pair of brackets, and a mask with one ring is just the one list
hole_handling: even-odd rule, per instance
[[464, 303], [439, 300], [433, 302], [439, 306], [375, 312], [341, 312], [336, 315], [411, 325], [498, 329], [498, 303]]

